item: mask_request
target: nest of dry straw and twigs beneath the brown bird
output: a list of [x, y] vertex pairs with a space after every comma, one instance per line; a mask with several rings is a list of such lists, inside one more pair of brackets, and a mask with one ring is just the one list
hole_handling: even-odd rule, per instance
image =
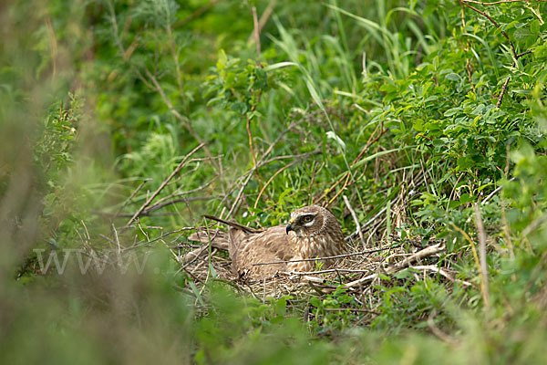
[[[457, 279], [455, 270], [439, 266], [439, 257], [446, 247], [443, 241], [429, 241], [428, 245], [423, 247], [416, 240], [391, 239], [384, 245], [368, 250], [362, 250], [361, 243], [353, 241], [351, 237], [347, 237], [346, 241], [349, 241], [350, 247], [346, 255], [314, 259], [319, 261], [336, 257], [337, 262], [334, 266], [326, 269], [317, 266], [315, 271], [310, 272], [277, 272], [274, 276], [262, 279], [236, 276], [232, 272], [229, 255], [221, 247], [202, 245], [181, 256], [181, 262], [183, 270], [198, 282], [204, 283], [213, 272], [216, 279], [230, 282], [234, 287], [262, 301], [266, 297], [323, 295], [339, 287], [345, 287], [357, 297], [363, 298], [360, 300], [362, 301], [370, 294], [370, 287], [378, 284], [382, 277], [392, 276], [405, 269], [411, 269], [417, 279], [434, 275], [439, 276], [441, 280], [459, 282], [464, 286], [470, 285]], [[412, 252], [408, 252], [408, 246]]]

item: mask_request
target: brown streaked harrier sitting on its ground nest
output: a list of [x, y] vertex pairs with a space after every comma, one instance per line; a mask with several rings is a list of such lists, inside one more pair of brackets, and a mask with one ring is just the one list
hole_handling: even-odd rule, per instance
[[[228, 233], [192, 234], [189, 239], [228, 248], [232, 257], [232, 272], [240, 278], [259, 279], [277, 272], [314, 271], [318, 262], [322, 268], [335, 264], [335, 259], [308, 260], [317, 257], [342, 255], [346, 244], [335, 216], [325, 207], [308, 205], [294, 210], [286, 225], [254, 229], [212, 215], [205, 218], [226, 224]], [[280, 263], [279, 261], [296, 261]], [[266, 264], [268, 265], [254, 264]]]

